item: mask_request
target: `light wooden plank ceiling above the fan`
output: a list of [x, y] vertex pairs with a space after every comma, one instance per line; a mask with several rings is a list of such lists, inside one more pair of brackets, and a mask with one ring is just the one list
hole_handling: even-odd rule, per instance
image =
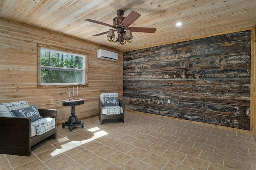
[[[108, 42], [108, 31], [85, 19], [112, 25], [117, 10], [124, 16], [141, 14], [130, 27], [157, 28], [154, 34], [133, 32], [132, 43]], [[47, 30], [60, 32], [121, 51], [130, 51], [200, 36], [212, 36], [253, 28], [256, 0], [1, 0], [0, 16]], [[182, 26], [176, 26], [182, 22]]]

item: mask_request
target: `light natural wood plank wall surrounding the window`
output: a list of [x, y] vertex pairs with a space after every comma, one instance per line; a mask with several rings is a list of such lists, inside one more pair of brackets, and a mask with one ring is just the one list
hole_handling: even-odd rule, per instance
[[[121, 51], [5, 18], [1, 18], [0, 38], [0, 103], [26, 100], [40, 109], [56, 109], [58, 125], [68, 121], [71, 107], [61, 103], [68, 99], [68, 87], [37, 88], [38, 43], [88, 55], [88, 87], [79, 88], [80, 98], [85, 102], [76, 106], [78, 119], [98, 115], [102, 92], [117, 92], [122, 98]], [[117, 52], [118, 61], [97, 59], [97, 49]]]

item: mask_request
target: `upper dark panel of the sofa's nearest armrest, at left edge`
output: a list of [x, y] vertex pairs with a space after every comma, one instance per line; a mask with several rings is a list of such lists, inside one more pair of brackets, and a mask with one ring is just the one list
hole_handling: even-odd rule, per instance
[[31, 138], [31, 119], [0, 117], [1, 138]]

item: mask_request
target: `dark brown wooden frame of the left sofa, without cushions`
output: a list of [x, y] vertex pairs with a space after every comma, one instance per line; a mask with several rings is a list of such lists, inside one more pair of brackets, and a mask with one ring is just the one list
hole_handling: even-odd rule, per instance
[[0, 153], [30, 156], [31, 147], [38, 142], [57, 136], [57, 111], [38, 109], [42, 117], [55, 118], [55, 127], [41, 135], [31, 137], [31, 120], [18, 117], [0, 117]]

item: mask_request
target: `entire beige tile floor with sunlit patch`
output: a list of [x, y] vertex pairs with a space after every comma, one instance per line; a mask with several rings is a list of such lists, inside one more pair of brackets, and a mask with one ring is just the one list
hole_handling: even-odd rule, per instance
[[125, 123], [81, 121], [71, 132], [59, 125], [30, 157], [0, 154], [0, 169], [256, 170], [252, 134], [131, 112]]

